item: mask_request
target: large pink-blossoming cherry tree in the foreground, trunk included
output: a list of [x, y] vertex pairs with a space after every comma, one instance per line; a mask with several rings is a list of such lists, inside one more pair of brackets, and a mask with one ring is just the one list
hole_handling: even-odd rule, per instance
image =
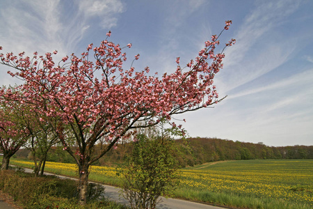
[[[227, 21], [223, 31], [230, 24], [231, 21]], [[56, 51], [45, 56], [35, 52], [32, 58], [24, 56], [24, 52], [18, 56], [0, 54], [3, 65], [17, 70], [9, 72], [10, 75], [24, 80], [20, 89], [25, 93], [20, 95], [19, 101], [32, 104], [35, 111], [45, 115], [40, 121], [60, 118], [51, 125], [79, 167], [82, 204], [86, 203], [90, 165], [116, 148], [120, 139], [131, 136], [138, 128], [157, 125], [161, 120], [170, 121], [175, 114], [209, 107], [223, 100], [218, 98], [214, 76], [223, 68], [223, 50], [235, 42], [230, 40], [216, 53], [220, 35], [211, 36], [198, 56], [184, 68], [177, 58], [175, 72], [157, 77], [149, 75], [148, 67], [136, 71], [131, 64], [125, 70], [125, 47], [108, 40], [111, 32], [106, 35], [99, 47], [90, 44], [81, 56], [71, 54], [58, 63], [52, 58]], [[130, 48], [131, 44], [126, 47]], [[139, 54], [134, 60], [137, 59]], [[96, 72], [101, 72], [101, 77]], [[67, 143], [67, 127], [76, 140], [77, 149]], [[94, 148], [99, 140], [106, 141], [106, 146], [96, 154]]]

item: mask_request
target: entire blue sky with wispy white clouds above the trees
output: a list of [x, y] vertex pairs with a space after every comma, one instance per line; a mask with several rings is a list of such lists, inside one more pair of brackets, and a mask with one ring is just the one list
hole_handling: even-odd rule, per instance
[[[187, 63], [211, 34], [232, 20], [222, 42], [224, 68], [216, 75], [214, 109], [177, 120], [191, 137], [263, 142], [268, 146], [313, 145], [313, 1], [6, 1], [0, 0], [3, 52], [31, 55], [58, 50], [80, 54], [110, 40], [133, 44], [141, 54], [137, 70], [174, 72], [175, 59]], [[125, 68], [130, 63], [125, 63]], [[0, 66], [0, 85], [19, 83]]]

